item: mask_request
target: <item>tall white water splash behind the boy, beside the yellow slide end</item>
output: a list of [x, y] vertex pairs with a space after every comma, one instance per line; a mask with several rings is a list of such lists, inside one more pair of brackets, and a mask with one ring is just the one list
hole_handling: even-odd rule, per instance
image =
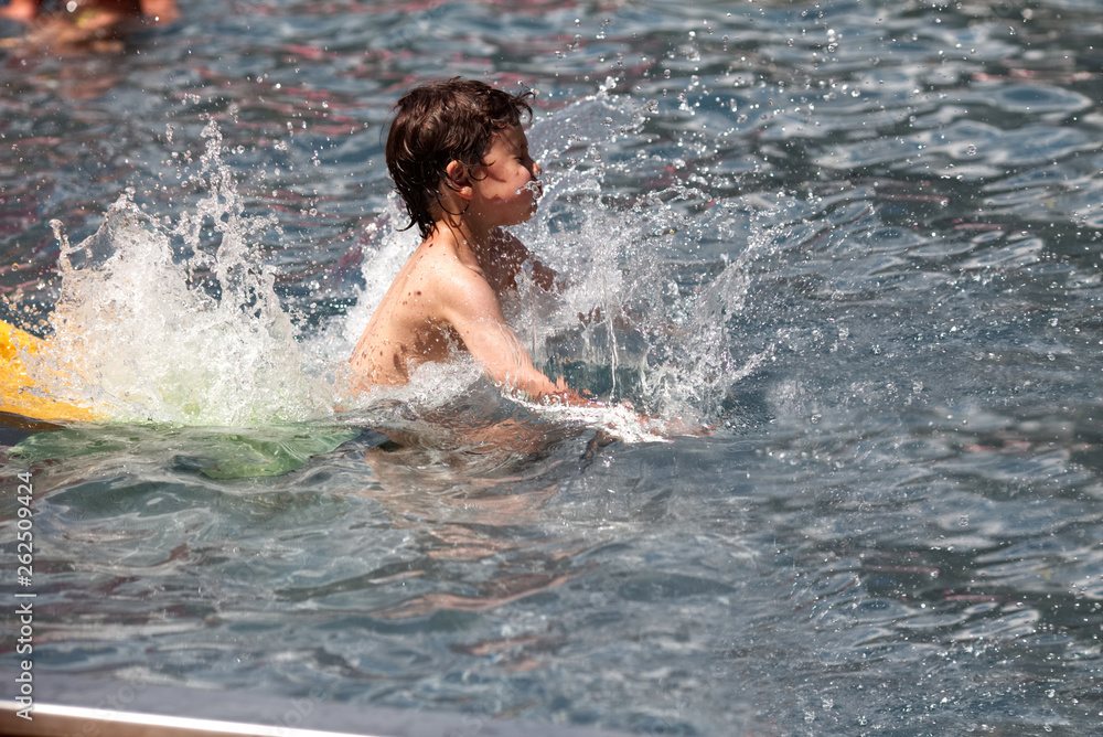
[[[132, 190], [78, 246], [55, 224], [54, 335], [26, 356], [28, 370], [44, 394], [116, 421], [248, 426], [323, 416], [328, 384], [304, 371], [275, 274], [250, 246], [272, 222], [243, 213], [213, 121], [203, 137], [193, 183], [206, 194], [175, 227], [143, 213]], [[217, 241], [214, 254], [204, 232]]]

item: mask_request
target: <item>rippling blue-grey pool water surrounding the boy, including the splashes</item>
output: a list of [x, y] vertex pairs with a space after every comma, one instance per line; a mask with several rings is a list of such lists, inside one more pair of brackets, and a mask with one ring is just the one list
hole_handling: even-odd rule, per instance
[[[38, 677], [1103, 734], [1101, 39], [1086, 0], [197, 0], [7, 47], [0, 318], [111, 417], [2, 436]], [[462, 361], [349, 393], [415, 238], [388, 108], [440, 75], [539, 90], [517, 232], [569, 285], [507, 310], [651, 420]]]

